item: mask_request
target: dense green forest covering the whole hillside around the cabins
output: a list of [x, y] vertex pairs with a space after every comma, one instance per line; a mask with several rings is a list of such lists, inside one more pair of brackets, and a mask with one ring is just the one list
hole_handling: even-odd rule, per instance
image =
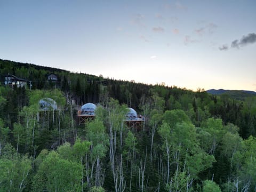
[[[32, 86], [5, 86], [7, 74]], [[0, 191], [256, 190], [254, 96], [7, 60], [0, 77]], [[58, 108], [40, 110], [43, 98]], [[78, 124], [87, 102], [98, 106], [95, 119]], [[124, 123], [127, 107], [145, 117], [140, 130]]]

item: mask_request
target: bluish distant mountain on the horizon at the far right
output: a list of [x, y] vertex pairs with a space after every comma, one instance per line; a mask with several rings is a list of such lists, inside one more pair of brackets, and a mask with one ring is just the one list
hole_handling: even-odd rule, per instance
[[238, 99], [238, 100], [244, 100], [247, 97], [254, 97], [256, 96], [255, 91], [247, 91], [247, 90], [207, 90], [207, 93], [214, 94], [214, 95], [221, 95], [221, 94], [228, 94], [231, 98], [233, 99]]

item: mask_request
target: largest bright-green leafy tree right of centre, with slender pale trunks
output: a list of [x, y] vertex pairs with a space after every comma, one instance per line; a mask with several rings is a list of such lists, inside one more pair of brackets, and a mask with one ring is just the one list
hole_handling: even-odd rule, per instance
[[209, 169], [215, 159], [199, 147], [196, 128], [184, 111], [165, 111], [163, 122], [158, 134], [163, 140], [163, 150], [167, 157], [165, 183], [173, 191], [174, 183], [177, 188], [177, 183], [181, 183], [180, 179], [186, 177], [181, 180], [186, 181], [185, 189], [188, 190], [193, 181], [198, 179], [199, 173]]

